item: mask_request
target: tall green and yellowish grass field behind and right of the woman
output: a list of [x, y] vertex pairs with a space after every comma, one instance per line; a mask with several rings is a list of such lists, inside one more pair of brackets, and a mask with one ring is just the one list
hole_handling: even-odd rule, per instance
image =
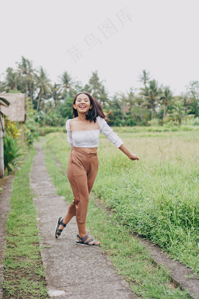
[[[116, 212], [118, 224], [150, 238], [199, 274], [198, 131], [124, 129], [115, 131], [140, 161], [130, 161], [101, 135], [93, 191]], [[47, 135], [65, 169], [70, 152], [66, 138], [63, 133]]]

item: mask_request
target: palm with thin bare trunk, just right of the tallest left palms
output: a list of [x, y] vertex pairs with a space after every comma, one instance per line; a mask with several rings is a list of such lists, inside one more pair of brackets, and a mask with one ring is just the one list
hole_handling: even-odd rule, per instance
[[39, 88], [38, 93], [38, 103], [37, 103], [37, 111], [39, 109], [39, 103], [40, 99], [43, 95], [52, 94], [50, 91], [50, 79], [48, 79], [46, 72], [42, 67], [40, 67], [40, 74], [39, 76], [35, 74], [36, 82], [37, 82], [37, 88]]

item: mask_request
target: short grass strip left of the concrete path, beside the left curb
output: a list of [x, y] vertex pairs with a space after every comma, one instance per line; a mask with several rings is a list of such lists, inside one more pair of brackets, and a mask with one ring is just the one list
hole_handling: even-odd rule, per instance
[[37, 213], [33, 205], [29, 172], [35, 150], [31, 149], [16, 173], [4, 261], [4, 298], [47, 298], [44, 267], [41, 263]]

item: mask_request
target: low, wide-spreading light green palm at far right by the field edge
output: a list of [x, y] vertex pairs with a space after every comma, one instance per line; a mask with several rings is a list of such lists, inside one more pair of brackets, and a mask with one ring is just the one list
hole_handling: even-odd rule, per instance
[[166, 115], [165, 120], [176, 120], [178, 121], [179, 126], [182, 123], [183, 119], [192, 118], [194, 114], [187, 114], [191, 110], [185, 110], [182, 101], [176, 101], [174, 105], [172, 105], [173, 109]]

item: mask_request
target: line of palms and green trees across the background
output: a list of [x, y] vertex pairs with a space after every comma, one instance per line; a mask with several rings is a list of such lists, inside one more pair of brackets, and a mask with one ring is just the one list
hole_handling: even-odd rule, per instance
[[188, 119], [199, 124], [198, 81], [189, 82], [186, 93], [175, 96], [169, 86], [159, 85], [157, 80], [151, 79], [149, 71], [143, 70], [138, 79], [143, 83], [139, 90], [130, 87], [129, 91], [116, 91], [110, 97], [104, 86], [105, 80], [99, 80], [97, 71], [92, 72], [85, 86], [67, 71], [53, 84], [46, 70], [33, 68], [33, 62], [22, 56], [15, 69], [7, 68], [4, 80], [0, 82], [0, 92], [25, 93], [27, 117], [33, 115], [40, 125], [64, 125], [68, 118], [72, 118], [72, 102], [81, 91], [89, 92], [101, 103], [110, 125], [146, 126], [168, 122], [181, 125]]

